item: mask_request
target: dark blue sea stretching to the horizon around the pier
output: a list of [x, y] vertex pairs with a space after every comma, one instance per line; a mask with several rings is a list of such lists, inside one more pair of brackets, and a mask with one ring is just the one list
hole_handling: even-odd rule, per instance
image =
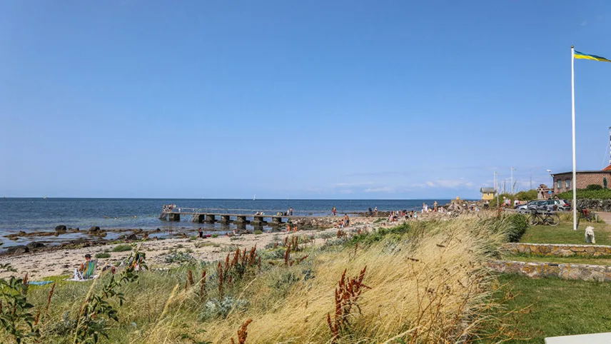
[[[176, 204], [176, 208], [197, 209], [210, 213], [266, 214], [286, 212], [293, 208], [295, 216], [328, 216], [335, 207], [338, 214], [361, 213], [368, 208], [378, 207], [379, 211], [418, 210], [423, 203], [432, 205], [450, 203], [439, 200], [304, 200], [304, 199], [172, 199], [172, 198], [0, 198], [0, 243], [3, 247], [20, 245], [29, 241], [65, 241], [84, 236], [67, 233], [59, 237], [20, 238], [9, 240], [11, 233], [19, 231], [54, 231], [56, 226], [79, 228], [87, 231], [91, 226], [101, 229], [153, 230], [160, 228], [161, 234], [179, 231], [193, 232], [203, 228], [205, 232], [233, 231], [234, 225], [221, 223], [193, 223], [189, 216], [180, 222], [159, 219], [164, 204]], [[113, 234], [110, 237], [112, 238]], [[118, 236], [118, 234], [116, 234]]]

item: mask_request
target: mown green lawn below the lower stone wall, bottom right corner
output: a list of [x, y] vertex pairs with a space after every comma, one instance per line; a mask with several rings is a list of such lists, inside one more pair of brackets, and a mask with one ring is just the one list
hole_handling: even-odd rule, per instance
[[515, 296], [509, 309], [530, 310], [517, 315], [521, 338], [508, 343], [544, 343], [545, 337], [611, 332], [611, 283], [533, 279], [500, 275]]

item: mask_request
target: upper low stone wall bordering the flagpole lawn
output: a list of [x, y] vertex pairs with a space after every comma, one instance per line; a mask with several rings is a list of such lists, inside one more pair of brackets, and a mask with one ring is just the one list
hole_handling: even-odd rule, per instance
[[[585, 240], [585, 239], [584, 239]], [[604, 245], [567, 245], [550, 243], [505, 243], [503, 250], [510, 253], [532, 254], [537, 256], [611, 256], [611, 246]]]

